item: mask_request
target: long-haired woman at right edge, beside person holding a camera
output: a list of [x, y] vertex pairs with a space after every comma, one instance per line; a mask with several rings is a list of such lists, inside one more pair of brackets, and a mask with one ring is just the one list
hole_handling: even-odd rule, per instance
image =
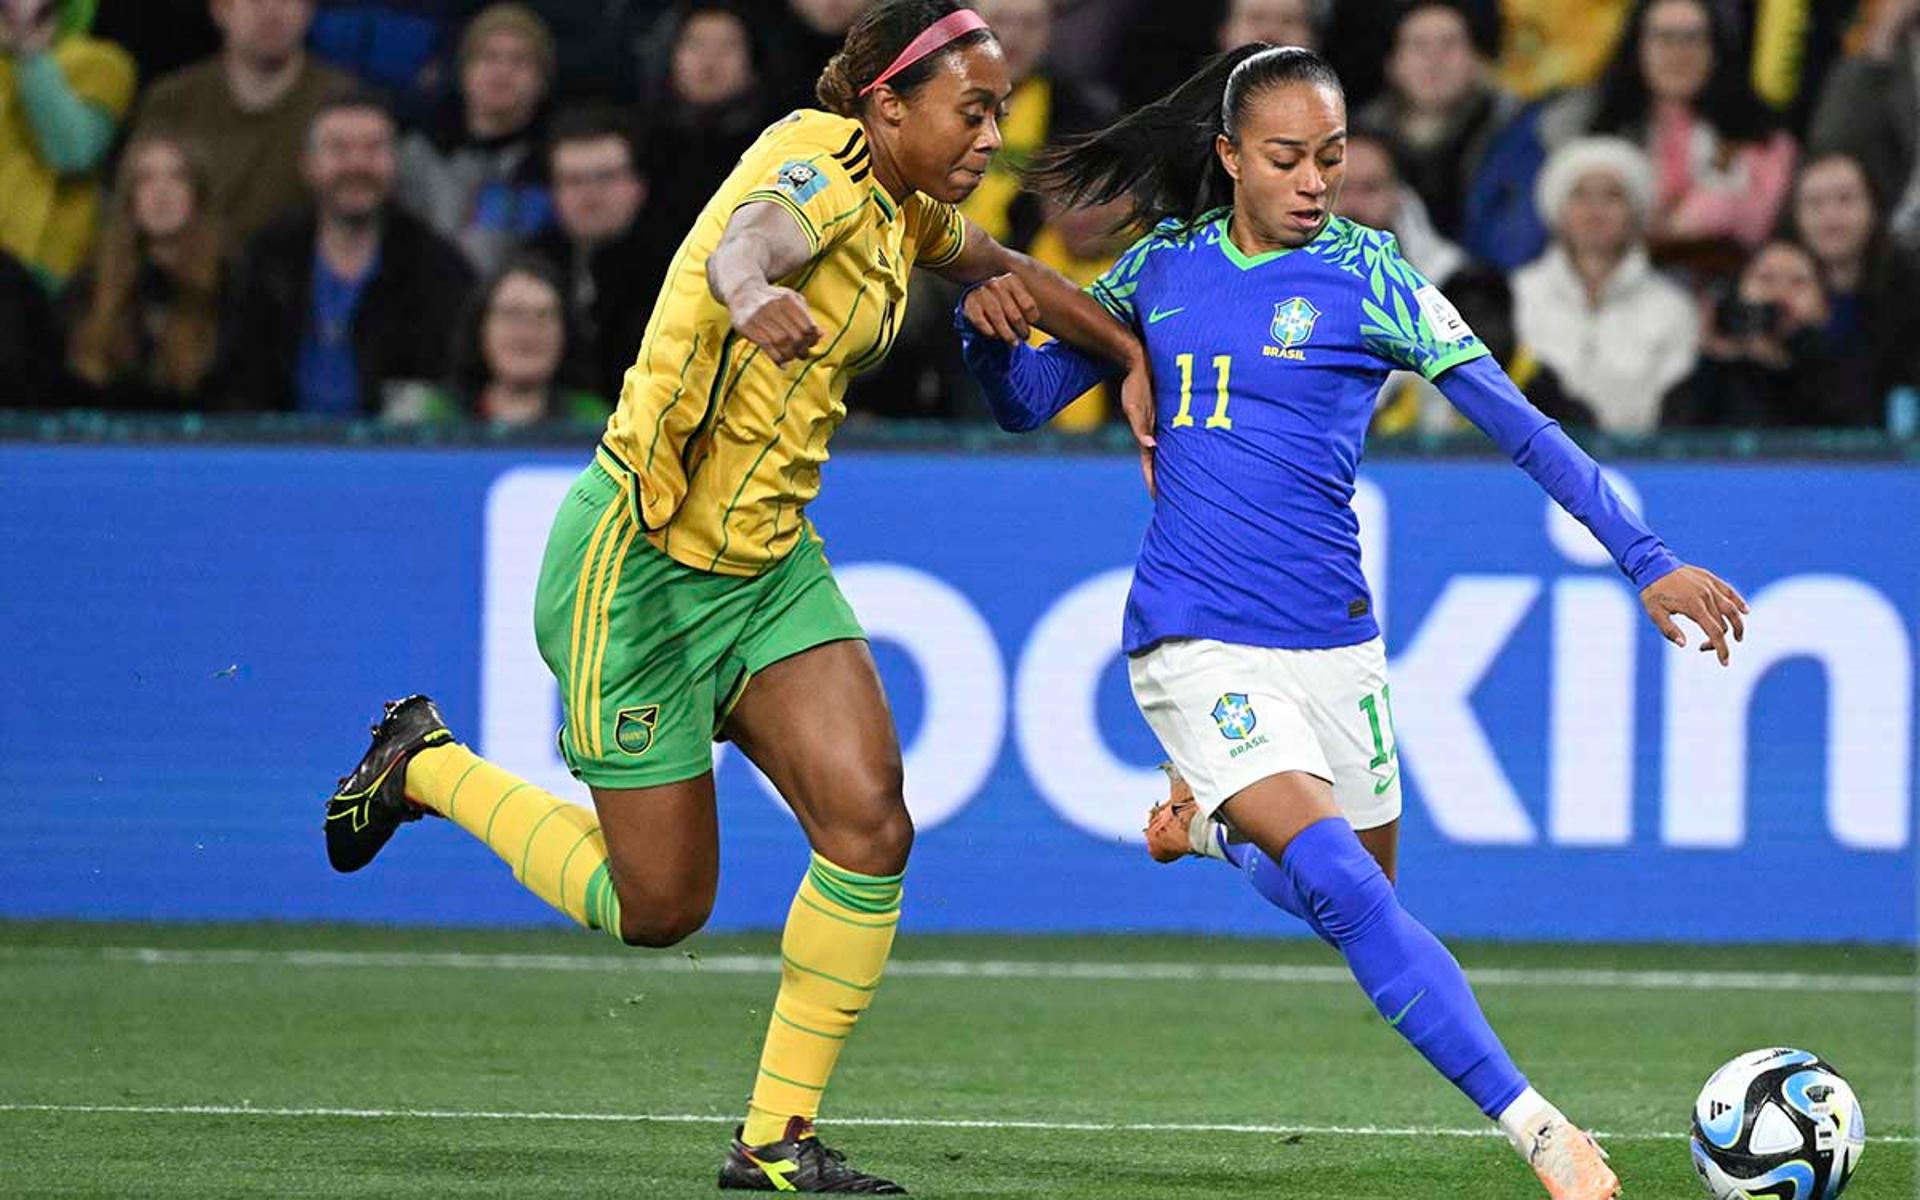
[[1793, 180], [1784, 228], [1820, 263], [1836, 357], [1884, 403], [1895, 388], [1920, 388], [1920, 263], [1887, 236], [1882, 213], [1860, 159], [1816, 154]]

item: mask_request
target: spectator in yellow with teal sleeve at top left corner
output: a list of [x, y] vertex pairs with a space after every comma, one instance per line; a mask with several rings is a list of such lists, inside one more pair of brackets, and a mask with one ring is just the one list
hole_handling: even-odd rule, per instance
[[0, 252], [58, 288], [94, 244], [100, 165], [134, 67], [92, 0], [0, 0]]

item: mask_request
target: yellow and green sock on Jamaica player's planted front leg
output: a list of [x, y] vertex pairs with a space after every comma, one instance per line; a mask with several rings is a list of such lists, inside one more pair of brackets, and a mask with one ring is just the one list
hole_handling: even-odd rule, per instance
[[900, 924], [900, 876], [862, 876], [812, 856], [780, 939], [780, 995], [741, 1139], [762, 1146], [789, 1117], [812, 1121], [847, 1035], [874, 998]]

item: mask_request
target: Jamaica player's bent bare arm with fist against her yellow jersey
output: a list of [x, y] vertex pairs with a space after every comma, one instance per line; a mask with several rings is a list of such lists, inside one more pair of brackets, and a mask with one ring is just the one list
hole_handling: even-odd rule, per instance
[[707, 255], [707, 290], [726, 305], [733, 328], [785, 367], [820, 340], [806, 298], [781, 288], [812, 259], [812, 246], [793, 213], [770, 200], [741, 205]]

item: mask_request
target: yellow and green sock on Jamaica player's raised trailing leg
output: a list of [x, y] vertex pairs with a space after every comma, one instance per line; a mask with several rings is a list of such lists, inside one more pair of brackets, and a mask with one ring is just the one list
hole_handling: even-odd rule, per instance
[[599, 820], [459, 743], [407, 762], [407, 799], [484, 841], [513, 877], [589, 929], [620, 937], [620, 899]]

